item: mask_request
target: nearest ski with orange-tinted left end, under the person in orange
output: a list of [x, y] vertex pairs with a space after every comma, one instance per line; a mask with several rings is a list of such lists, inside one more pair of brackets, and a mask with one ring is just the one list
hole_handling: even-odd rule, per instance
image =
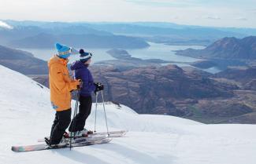
[[[78, 142], [72, 143], [71, 147], [83, 147], [83, 146], [90, 146], [94, 144], [107, 144], [111, 141], [111, 138], [104, 138], [101, 140], [91, 140], [86, 142]], [[50, 150], [50, 149], [59, 149], [59, 148], [69, 148], [69, 143], [59, 146], [59, 147], [50, 147], [47, 144], [34, 144], [34, 145], [27, 145], [27, 146], [13, 146], [12, 151], [15, 152], [27, 152], [27, 151], [43, 151], [43, 150]]]

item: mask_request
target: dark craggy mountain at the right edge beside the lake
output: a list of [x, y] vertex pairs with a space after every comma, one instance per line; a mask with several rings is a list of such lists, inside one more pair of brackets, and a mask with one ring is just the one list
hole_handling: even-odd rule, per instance
[[222, 38], [206, 49], [177, 50], [176, 54], [204, 59], [191, 64], [200, 68], [225, 70], [228, 67], [247, 66], [256, 60], [256, 36]]

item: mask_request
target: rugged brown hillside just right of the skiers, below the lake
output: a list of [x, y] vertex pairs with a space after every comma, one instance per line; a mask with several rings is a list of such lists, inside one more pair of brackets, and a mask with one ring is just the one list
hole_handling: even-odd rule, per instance
[[[120, 71], [114, 67], [91, 67], [95, 80], [106, 84], [108, 100], [128, 105], [139, 113], [185, 115], [174, 102], [232, 97], [229, 86], [189, 74], [176, 65], [139, 67]], [[189, 103], [190, 102], [190, 103]]]

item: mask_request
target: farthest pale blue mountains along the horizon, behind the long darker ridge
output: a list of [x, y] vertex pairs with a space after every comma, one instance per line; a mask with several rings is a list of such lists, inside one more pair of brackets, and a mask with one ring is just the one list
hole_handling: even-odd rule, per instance
[[[256, 35], [255, 29], [250, 28], [221, 28], [200, 27], [159, 22], [135, 23], [90, 23], [90, 22], [41, 22], [2, 20], [13, 27], [10, 31], [1, 32], [0, 44], [10, 41], [33, 37], [40, 33], [50, 35], [122, 35], [141, 38], [147, 42], [158, 42], [169, 45], [203, 45], [208, 46], [217, 39], [224, 37], [243, 38]], [[121, 44], [121, 43], [120, 43]], [[106, 43], [107, 45], [107, 43]], [[9, 45], [10, 46], [10, 45]], [[94, 46], [97, 46], [97, 42]], [[109, 48], [124, 48], [109, 47]], [[137, 48], [139, 46], [136, 46]], [[98, 46], [100, 48], [100, 46]], [[140, 46], [143, 48], [143, 46]]]

